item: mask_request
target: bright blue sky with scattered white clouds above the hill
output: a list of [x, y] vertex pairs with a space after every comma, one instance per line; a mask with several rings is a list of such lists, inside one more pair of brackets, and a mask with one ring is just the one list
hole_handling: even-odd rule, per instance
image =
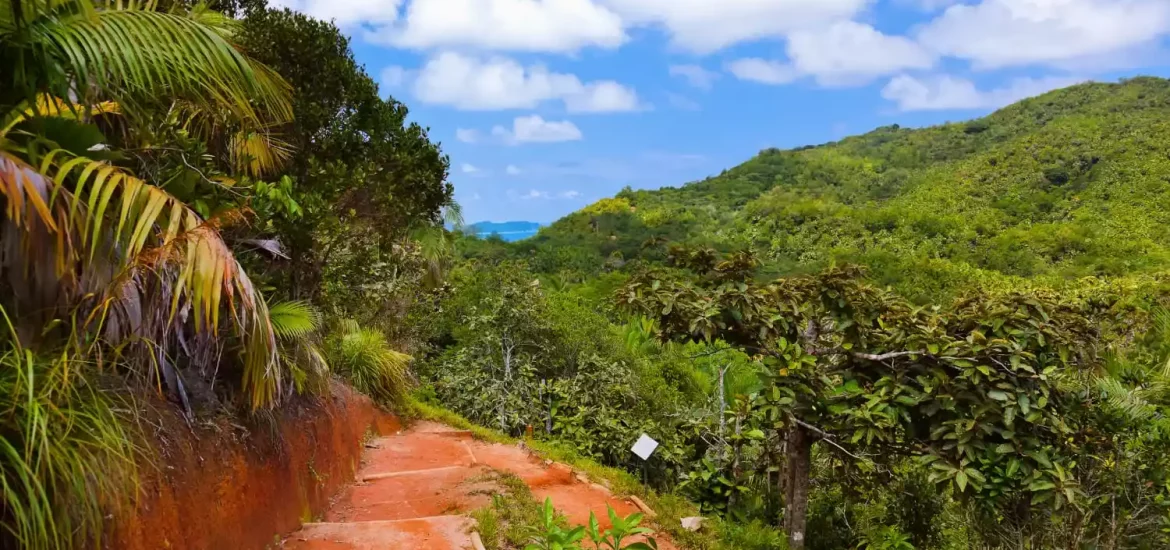
[[764, 147], [1170, 74], [1170, 0], [275, 4], [353, 37], [450, 154], [468, 221], [548, 222]]

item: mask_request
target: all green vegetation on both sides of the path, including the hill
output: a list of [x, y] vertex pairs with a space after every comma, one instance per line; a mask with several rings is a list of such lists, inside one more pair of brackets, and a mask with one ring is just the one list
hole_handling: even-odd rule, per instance
[[504, 243], [443, 229], [427, 130], [263, 0], [0, 0], [0, 548], [98, 546], [159, 403], [335, 380], [638, 474], [710, 517], [688, 548], [1170, 548], [1170, 82]]

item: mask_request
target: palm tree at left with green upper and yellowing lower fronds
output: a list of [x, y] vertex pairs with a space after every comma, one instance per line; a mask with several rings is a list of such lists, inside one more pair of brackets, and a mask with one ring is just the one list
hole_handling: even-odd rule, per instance
[[71, 318], [77, 331], [49, 335], [77, 346], [142, 343], [150, 351], [139, 359], [157, 371], [171, 367], [165, 350], [180, 339], [209, 349], [226, 314], [250, 403], [266, 406], [282, 374], [264, 300], [218, 232], [234, 215], [204, 219], [111, 161], [92, 122], [115, 114], [133, 128], [181, 101], [266, 128], [290, 117], [289, 89], [205, 11], [153, 7], [0, 0], [0, 67], [11, 75], [0, 83], [0, 274], [13, 287], [0, 305], [26, 342]]

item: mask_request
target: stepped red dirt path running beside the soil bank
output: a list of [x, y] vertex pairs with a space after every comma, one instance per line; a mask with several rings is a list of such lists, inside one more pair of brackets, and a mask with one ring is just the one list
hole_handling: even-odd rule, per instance
[[[434, 422], [372, 442], [358, 482], [333, 500], [322, 523], [307, 523], [284, 541], [290, 550], [470, 550], [474, 521], [463, 514], [488, 506], [493, 469], [510, 472], [539, 499], [551, 497], [569, 521], [590, 511], [608, 525], [606, 504], [622, 516], [638, 509], [605, 488], [581, 483], [567, 466], [543, 461], [518, 446], [488, 444]], [[659, 537], [659, 548], [675, 550]]]

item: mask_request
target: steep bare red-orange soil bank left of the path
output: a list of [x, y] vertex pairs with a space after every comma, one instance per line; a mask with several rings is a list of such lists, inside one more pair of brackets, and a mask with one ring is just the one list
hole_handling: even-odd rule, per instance
[[287, 407], [245, 428], [223, 420], [188, 427], [170, 410], [143, 420], [157, 454], [132, 511], [106, 548], [253, 550], [312, 521], [360, 467], [367, 433], [398, 420], [349, 387]]

